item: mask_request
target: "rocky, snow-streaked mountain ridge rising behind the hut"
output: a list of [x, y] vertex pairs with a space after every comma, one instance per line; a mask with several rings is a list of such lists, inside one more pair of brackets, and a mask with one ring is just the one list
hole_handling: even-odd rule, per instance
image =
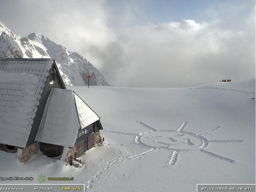
[[91, 75], [90, 85], [110, 85], [102, 73], [79, 53], [71, 52], [37, 33], [21, 38], [2, 21], [0, 21], [0, 58], [54, 58], [66, 85], [88, 85], [87, 74]]

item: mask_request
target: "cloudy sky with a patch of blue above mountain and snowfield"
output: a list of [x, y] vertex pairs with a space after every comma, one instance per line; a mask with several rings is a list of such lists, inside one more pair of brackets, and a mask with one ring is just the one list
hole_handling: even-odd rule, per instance
[[115, 86], [255, 78], [254, 0], [0, 0], [13, 32], [82, 54]]

